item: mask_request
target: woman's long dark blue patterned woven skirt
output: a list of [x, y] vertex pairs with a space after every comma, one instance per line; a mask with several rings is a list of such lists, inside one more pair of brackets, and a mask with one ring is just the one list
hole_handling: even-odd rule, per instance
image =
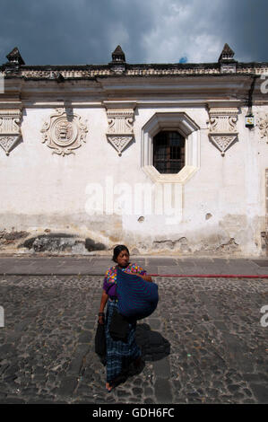
[[109, 325], [114, 309], [118, 309], [117, 301], [108, 300], [106, 312], [106, 347], [107, 347], [107, 382], [113, 382], [122, 373], [125, 365], [129, 365], [134, 359], [142, 356], [140, 347], [136, 344], [134, 335], [136, 322], [129, 324], [127, 341], [113, 340], [109, 334]]

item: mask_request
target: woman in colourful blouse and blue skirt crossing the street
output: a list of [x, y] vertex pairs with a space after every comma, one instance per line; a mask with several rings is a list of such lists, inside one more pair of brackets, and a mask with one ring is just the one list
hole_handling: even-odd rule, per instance
[[[105, 334], [107, 344], [107, 382], [106, 388], [111, 391], [113, 384], [117, 382], [117, 377], [124, 369], [124, 361], [134, 362], [135, 367], [139, 367], [142, 362], [142, 352], [137, 346], [134, 338], [136, 322], [129, 321], [129, 331], [125, 341], [114, 340], [109, 333], [109, 327], [114, 310], [117, 310], [117, 268], [130, 274], [142, 277], [146, 281], [152, 281], [147, 276], [146, 271], [138, 265], [129, 262], [129, 251], [125, 245], [117, 245], [114, 249], [113, 260], [117, 263], [109, 268], [103, 281], [103, 292], [99, 306], [99, 323], [105, 323]], [[104, 308], [108, 303], [106, 318], [104, 318]]]

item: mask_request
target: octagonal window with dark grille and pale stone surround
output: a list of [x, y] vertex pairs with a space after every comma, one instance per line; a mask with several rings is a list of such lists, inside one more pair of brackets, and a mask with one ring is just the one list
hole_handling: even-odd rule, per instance
[[200, 168], [200, 127], [186, 112], [156, 112], [142, 128], [142, 168], [153, 182], [186, 183]]

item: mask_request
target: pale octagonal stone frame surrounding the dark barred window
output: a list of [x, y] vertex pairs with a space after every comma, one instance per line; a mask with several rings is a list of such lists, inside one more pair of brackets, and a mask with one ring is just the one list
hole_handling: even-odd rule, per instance
[[[153, 137], [161, 130], [177, 130], [186, 139], [186, 164], [177, 173], [160, 173], [153, 165]], [[200, 127], [186, 112], [157, 111], [142, 128], [142, 169], [156, 183], [184, 184], [200, 168]]]

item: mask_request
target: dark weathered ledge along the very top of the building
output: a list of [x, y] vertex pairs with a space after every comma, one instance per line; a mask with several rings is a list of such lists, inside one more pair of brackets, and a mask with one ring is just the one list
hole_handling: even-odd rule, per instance
[[239, 63], [225, 60], [222, 63], [200, 64], [125, 64], [115, 61], [108, 65], [83, 66], [0, 66], [9, 77], [56, 80], [60, 73], [65, 79], [89, 79], [95, 77], [131, 77], [131, 76], [191, 76], [191, 75], [267, 75], [268, 63]]

